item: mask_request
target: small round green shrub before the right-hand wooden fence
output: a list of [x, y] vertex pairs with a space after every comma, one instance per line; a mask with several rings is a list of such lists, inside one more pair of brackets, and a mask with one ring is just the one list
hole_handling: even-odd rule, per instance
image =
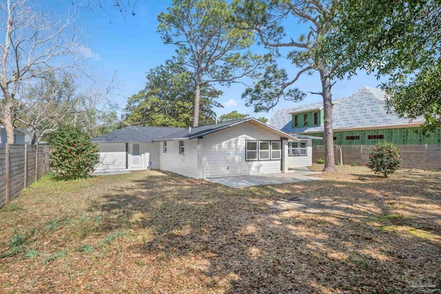
[[366, 162], [366, 165], [374, 173], [382, 174], [387, 178], [401, 167], [400, 150], [393, 143], [376, 144], [369, 155], [369, 161]]

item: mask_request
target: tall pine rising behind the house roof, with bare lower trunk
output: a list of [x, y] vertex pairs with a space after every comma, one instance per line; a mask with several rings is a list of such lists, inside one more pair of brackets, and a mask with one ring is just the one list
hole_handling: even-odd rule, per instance
[[256, 69], [265, 61], [247, 50], [254, 33], [238, 28], [233, 11], [224, 0], [173, 0], [167, 12], [158, 15], [158, 32], [164, 43], [176, 45], [178, 58], [195, 74], [195, 127], [203, 87], [258, 76]]

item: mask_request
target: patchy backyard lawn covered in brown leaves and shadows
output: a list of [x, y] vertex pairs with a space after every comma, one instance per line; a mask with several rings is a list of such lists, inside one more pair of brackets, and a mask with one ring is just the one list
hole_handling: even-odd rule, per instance
[[440, 172], [319, 176], [45, 176], [0, 209], [0, 292], [439, 293]]

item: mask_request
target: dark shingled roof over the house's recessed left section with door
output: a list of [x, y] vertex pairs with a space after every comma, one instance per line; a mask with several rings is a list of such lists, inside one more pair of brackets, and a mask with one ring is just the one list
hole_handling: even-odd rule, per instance
[[109, 134], [99, 136], [92, 139], [95, 143], [152, 143], [154, 139], [160, 138], [162, 136], [167, 136], [167, 134], [179, 131], [187, 130], [182, 127], [125, 127], [123, 129], [118, 129]]

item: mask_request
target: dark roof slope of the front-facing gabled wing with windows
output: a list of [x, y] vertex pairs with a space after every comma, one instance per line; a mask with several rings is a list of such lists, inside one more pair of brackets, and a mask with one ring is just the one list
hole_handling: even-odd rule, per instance
[[243, 118], [236, 120], [225, 121], [224, 123], [213, 123], [211, 125], [201, 125], [200, 127], [192, 127], [191, 132], [189, 129], [179, 129], [176, 132], [164, 134], [163, 136], [156, 138], [154, 141], [167, 141], [173, 139], [193, 139], [198, 138], [199, 136], [203, 136], [209, 133], [220, 131], [221, 129], [225, 129], [227, 127], [231, 127], [232, 125], [236, 125], [238, 123], [243, 123], [248, 120], [252, 120], [254, 118]]

